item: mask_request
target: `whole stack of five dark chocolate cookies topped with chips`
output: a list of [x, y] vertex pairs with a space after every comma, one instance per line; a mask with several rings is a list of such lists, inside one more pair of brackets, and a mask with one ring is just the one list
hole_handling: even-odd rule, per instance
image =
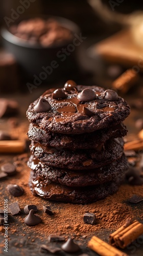
[[115, 193], [128, 162], [122, 123], [127, 102], [115, 91], [68, 80], [30, 104], [30, 187], [47, 200], [86, 204]]

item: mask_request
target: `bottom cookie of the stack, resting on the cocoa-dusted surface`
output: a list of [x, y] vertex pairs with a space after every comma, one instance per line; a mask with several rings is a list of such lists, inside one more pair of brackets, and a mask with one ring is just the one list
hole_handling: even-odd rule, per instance
[[32, 171], [30, 176], [30, 187], [34, 195], [38, 195], [46, 200], [88, 204], [116, 193], [122, 179], [118, 179], [116, 182], [108, 182], [96, 186], [68, 187], [48, 179], [44, 180]]

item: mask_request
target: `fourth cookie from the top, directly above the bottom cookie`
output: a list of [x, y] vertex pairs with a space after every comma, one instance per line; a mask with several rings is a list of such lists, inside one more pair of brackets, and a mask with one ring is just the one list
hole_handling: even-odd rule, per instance
[[77, 170], [61, 169], [48, 166], [43, 162], [33, 159], [31, 156], [28, 166], [34, 170], [34, 173], [44, 179], [60, 183], [66, 186], [93, 186], [123, 177], [128, 169], [128, 161], [123, 155], [120, 159], [109, 165], [93, 170]]

